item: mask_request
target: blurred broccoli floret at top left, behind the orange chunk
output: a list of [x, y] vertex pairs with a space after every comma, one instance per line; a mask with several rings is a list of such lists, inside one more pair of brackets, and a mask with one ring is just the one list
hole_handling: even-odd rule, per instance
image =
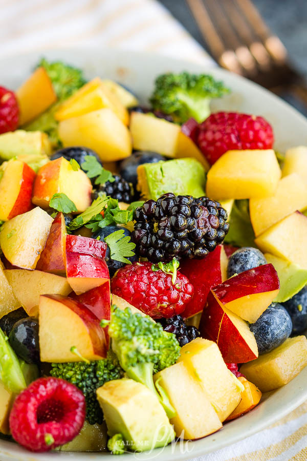
[[43, 67], [52, 81], [53, 89], [59, 101], [68, 98], [86, 82], [83, 71], [64, 62], [49, 62], [42, 58], [38, 67]]

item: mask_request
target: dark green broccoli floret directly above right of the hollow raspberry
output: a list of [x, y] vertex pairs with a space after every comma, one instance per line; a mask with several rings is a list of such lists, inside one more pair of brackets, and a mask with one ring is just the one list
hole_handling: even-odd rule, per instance
[[77, 386], [85, 396], [87, 421], [90, 424], [101, 424], [103, 415], [96, 397], [96, 389], [107, 381], [122, 378], [123, 370], [116, 355], [109, 351], [106, 359], [95, 362], [53, 363], [50, 374]]

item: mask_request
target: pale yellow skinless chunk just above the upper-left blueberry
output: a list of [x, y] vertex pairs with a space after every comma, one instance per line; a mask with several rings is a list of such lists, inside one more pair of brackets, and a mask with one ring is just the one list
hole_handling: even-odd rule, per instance
[[64, 147], [83, 145], [93, 149], [103, 162], [122, 160], [131, 155], [131, 135], [110, 109], [100, 109], [59, 123]]

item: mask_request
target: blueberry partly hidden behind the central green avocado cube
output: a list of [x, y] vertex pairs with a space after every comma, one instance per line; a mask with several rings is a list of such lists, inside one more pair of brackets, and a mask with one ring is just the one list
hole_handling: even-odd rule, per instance
[[120, 162], [119, 173], [135, 187], [138, 182], [137, 167], [143, 163], [157, 163], [161, 160], [166, 160], [166, 158], [156, 152], [136, 151]]

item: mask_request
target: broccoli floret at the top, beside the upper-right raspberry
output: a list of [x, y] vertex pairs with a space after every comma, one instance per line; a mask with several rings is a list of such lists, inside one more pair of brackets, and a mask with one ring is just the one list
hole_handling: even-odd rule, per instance
[[210, 114], [210, 99], [228, 92], [223, 82], [211, 75], [168, 73], [156, 79], [150, 102], [153, 109], [172, 115], [174, 121], [184, 123], [193, 117], [200, 123]]

